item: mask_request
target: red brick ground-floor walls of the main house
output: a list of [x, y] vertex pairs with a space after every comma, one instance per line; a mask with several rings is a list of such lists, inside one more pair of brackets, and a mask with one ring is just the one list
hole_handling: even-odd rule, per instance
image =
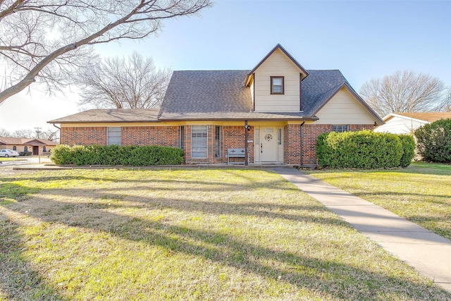
[[[106, 127], [63, 127], [61, 144], [106, 145]], [[250, 126], [248, 140], [254, 141], [254, 127]], [[349, 125], [349, 130], [373, 129], [373, 125]], [[207, 157], [191, 158], [191, 125], [184, 126], [183, 149], [187, 164], [227, 162], [227, 149], [245, 147], [243, 125], [223, 125], [221, 130], [221, 156], [216, 157], [216, 126], [207, 127]], [[330, 133], [330, 124], [302, 125], [302, 143], [299, 124], [288, 124], [283, 128], [283, 161], [285, 164], [316, 164], [316, 139], [322, 133]], [[122, 128], [122, 145], [163, 145], [180, 147], [180, 126], [126, 126]], [[300, 148], [302, 144], [302, 160]], [[254, 162], [254, 143], [247, 143], [249, 163]], [[241, 158], [233, 160], [242, 161]]]

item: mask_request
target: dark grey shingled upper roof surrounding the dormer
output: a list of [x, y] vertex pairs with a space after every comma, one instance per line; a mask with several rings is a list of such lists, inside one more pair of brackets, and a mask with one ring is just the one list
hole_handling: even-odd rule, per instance
[[354, 92], [340, 70], [307, 71], [309, 76], [302, 80], [302, 111], [288, 113], [252, 111], [250, 88], [244, 85], [249, 70], [174, 71], [158, 119], [316, 120], [316, 111], [339, 89]]

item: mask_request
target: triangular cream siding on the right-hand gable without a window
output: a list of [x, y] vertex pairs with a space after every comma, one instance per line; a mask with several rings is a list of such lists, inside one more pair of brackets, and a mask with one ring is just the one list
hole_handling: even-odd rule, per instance
[[316, 116], [316, 124], [373, 124], [374, 117], [345, 88], [338, 91]]

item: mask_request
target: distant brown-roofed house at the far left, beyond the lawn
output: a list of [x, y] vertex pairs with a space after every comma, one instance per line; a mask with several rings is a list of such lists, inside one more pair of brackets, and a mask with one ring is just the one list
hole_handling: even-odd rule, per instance
[[34, 155], [48, 155], [56, 142], [45, 139], [0, 137], [0, 149], [13, 149], [17, 152], [32, 152]]

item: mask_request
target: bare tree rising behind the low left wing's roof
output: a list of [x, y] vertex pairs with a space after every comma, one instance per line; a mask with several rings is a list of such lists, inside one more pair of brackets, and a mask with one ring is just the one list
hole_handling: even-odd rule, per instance
[[81, 102], [96, 108], [150, 109], [163, 100], [172, 71], [156, 70], [152, 58], [134, 52], [80, 68]]

